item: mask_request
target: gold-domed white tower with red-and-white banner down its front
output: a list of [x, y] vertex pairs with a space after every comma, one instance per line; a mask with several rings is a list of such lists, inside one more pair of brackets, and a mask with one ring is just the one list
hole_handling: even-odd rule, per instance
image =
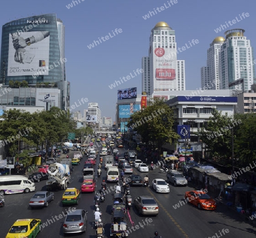
[[151, 30], [148, 57], [142, 58], [142, 91], [185, 90], [185, 61], [177, 60], [175, 31], [159, 22]]

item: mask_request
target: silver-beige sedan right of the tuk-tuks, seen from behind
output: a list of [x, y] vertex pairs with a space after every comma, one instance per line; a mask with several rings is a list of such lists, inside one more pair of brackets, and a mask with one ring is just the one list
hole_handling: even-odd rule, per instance
[[134, 206], [140, 215], [158, 215], [158, 203], [150, 196], [139, 196], [134, 199]]

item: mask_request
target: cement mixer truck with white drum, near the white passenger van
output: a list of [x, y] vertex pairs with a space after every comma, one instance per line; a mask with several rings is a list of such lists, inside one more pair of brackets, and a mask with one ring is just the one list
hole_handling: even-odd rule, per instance
[[70, 180], [70, 169], [68, 164], [50, 164], [47, 172], [49, 175], [49, 179], [46, 182], [47, 191], [67, 189]]

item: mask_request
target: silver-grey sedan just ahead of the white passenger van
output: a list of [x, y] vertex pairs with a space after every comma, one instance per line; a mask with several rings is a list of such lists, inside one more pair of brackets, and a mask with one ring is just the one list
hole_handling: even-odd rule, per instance
[[53, 201], [54, 194], [48, 191], [36, 192], [30, 199], [31, 209], [34, 207], [48, 207], [49, 202]]

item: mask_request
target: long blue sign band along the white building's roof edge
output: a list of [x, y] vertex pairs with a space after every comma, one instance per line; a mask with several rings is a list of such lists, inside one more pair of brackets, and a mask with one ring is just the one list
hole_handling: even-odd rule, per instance
[[237, 103], [237, 97], [224, 97], [224, 96], [177, 96], [169, 100], [168, 103], [175, 103], [176, 101], [196, 101], [203, 103]]

